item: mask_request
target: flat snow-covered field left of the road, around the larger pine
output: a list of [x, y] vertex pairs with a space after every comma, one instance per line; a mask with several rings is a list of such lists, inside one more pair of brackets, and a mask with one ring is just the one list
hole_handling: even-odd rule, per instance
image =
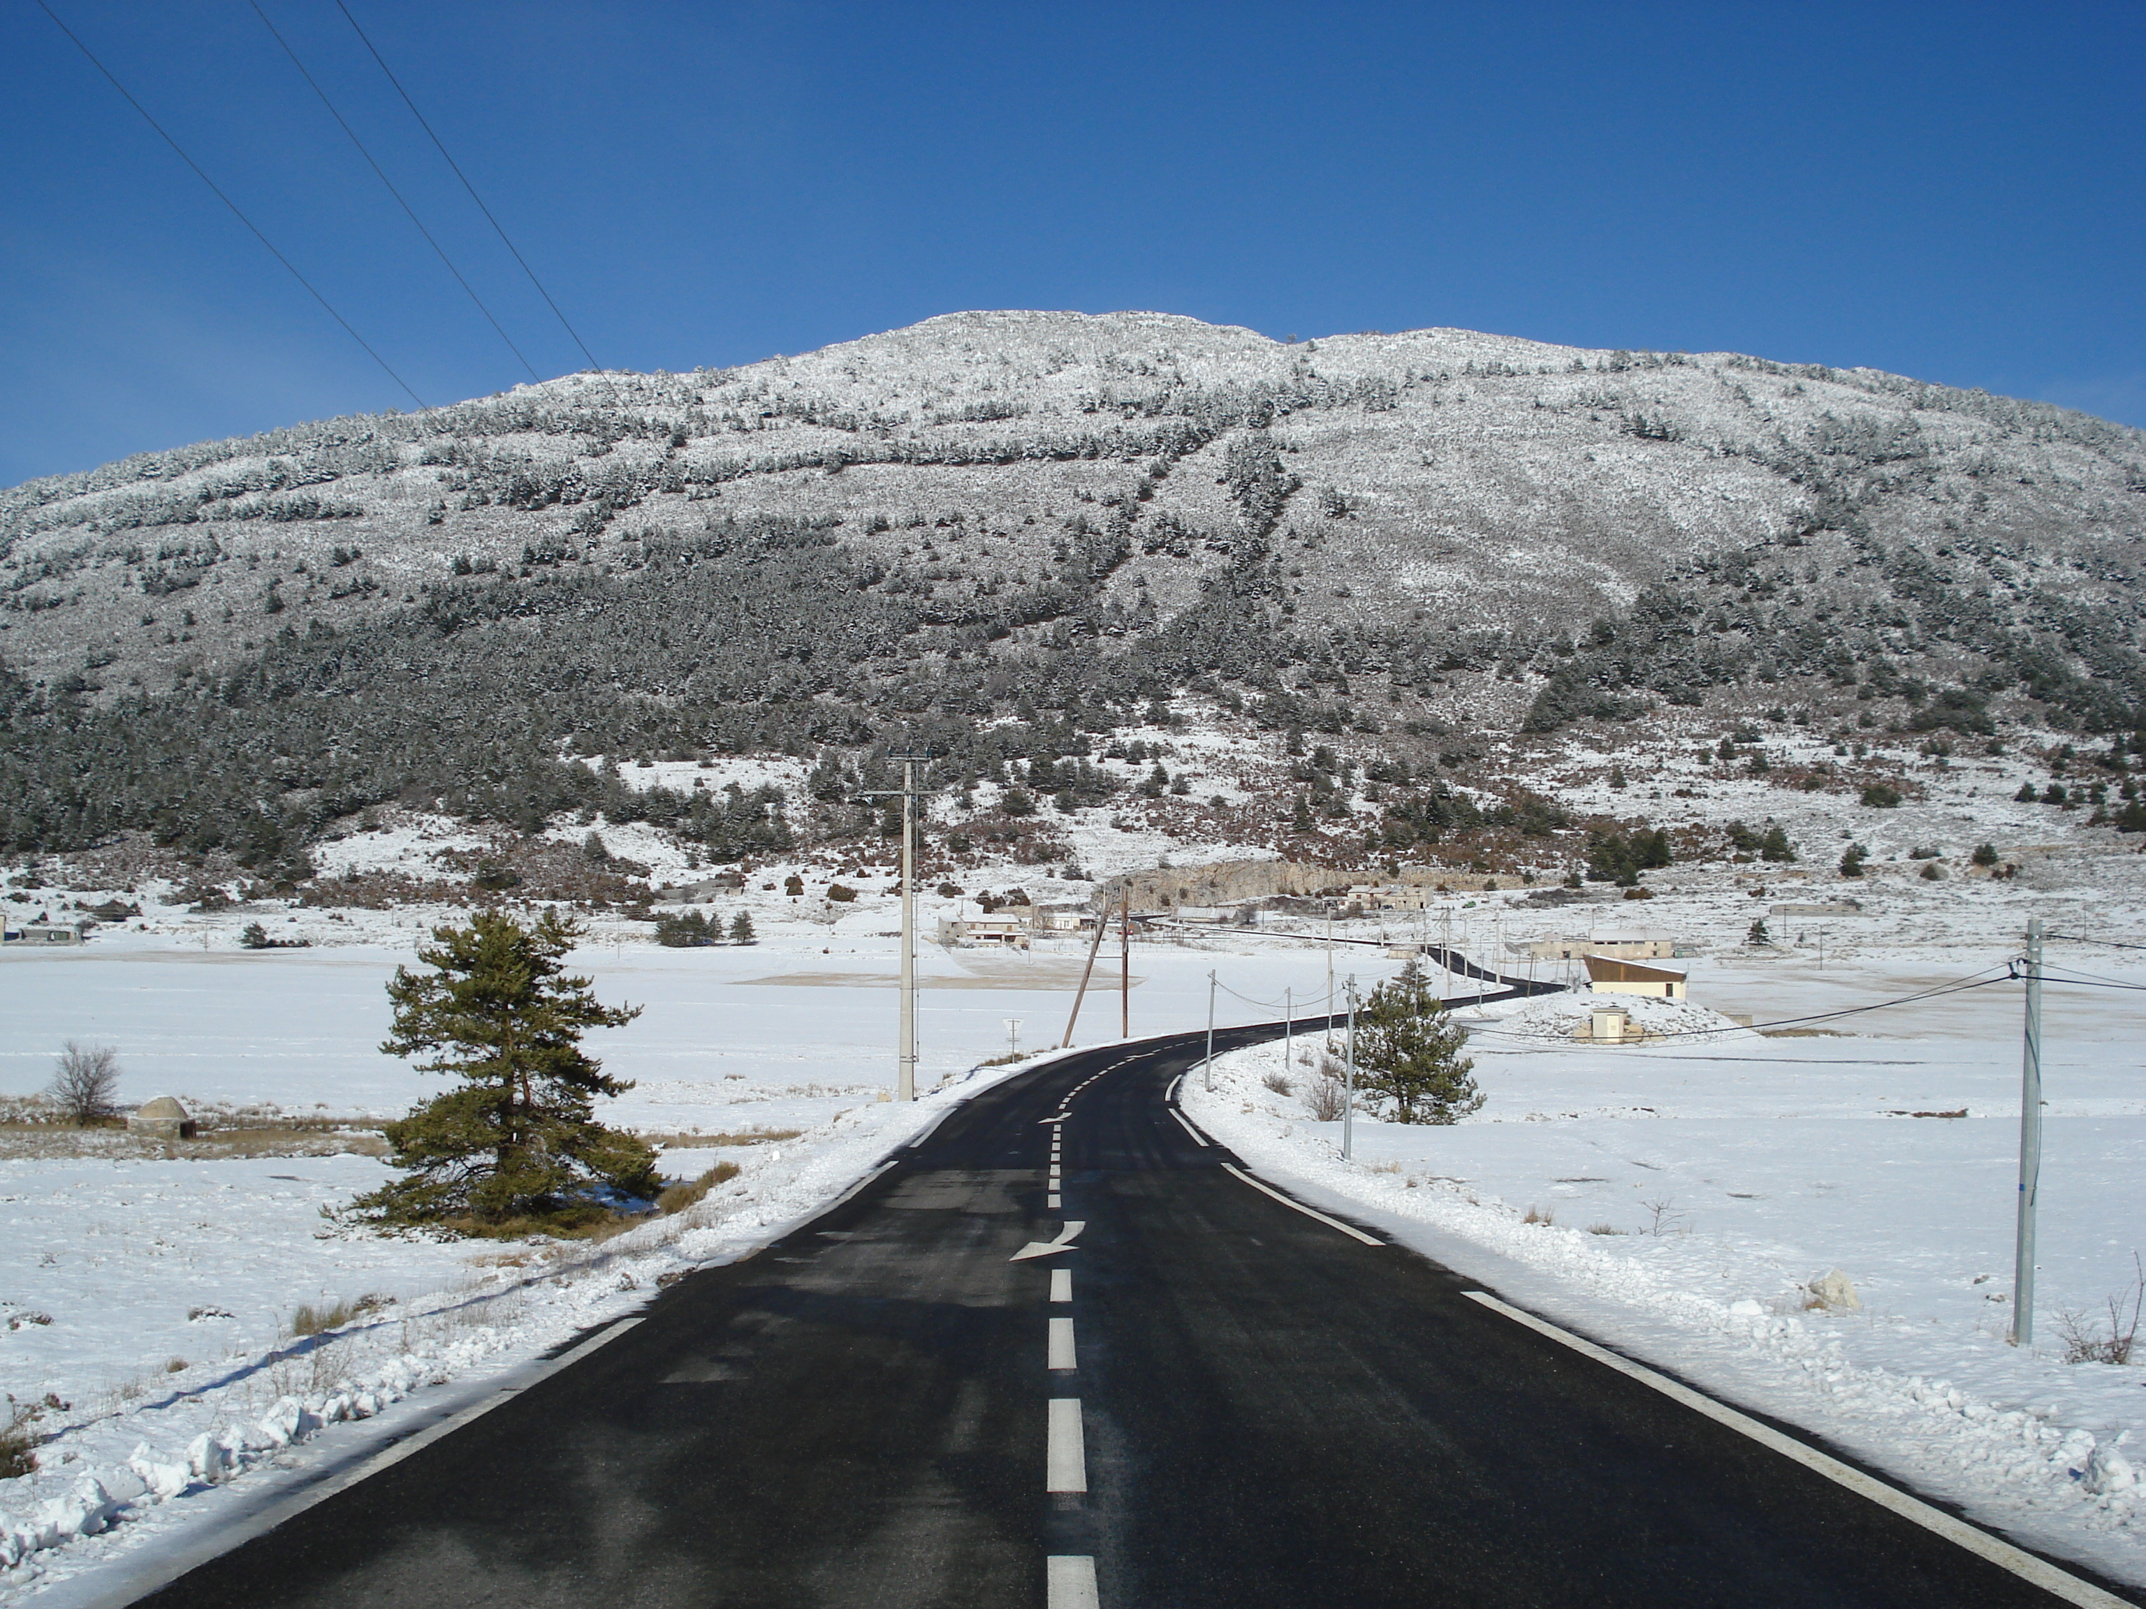
[[[376, 1049], [382, 985], [412, 959], [393, 938], [412, 942], [416, 922], [354, 916], [348, 938], [363, 942], [333, 948], [245, 953], [197, 920], [6, 955], [0, 1096], [36, 1092], [77, 1038], [120, 1051], [127, 1103], [399, 1116], [440, 1088]], [[49, 1437], [34, 1476], [0, 1482], [0, 1603], [139, 1560], [251, 1502], [264, 1478], [303, 1478], [421, 1401], [633, 1309], [665, 1274], [766, 1242], [994, 1077], [964, 1079], [1004, 1053], [1009, 1017], [1030, 1051], [1064, 1032], [1082, 961], [1071, 940], [1028, 955], [927, 948], [921, 1083], [953, 1083], [912, 1107], [884, 1101], [897, 946], [867, 927], [884, 912], [852, 920], [865, 931], [846, 938], [770, 907], [775, 938], [751, 948], [618, 938], [573, 957], [603, 1000], [646, 1006], [590, 1040], [637, 1081], [605, 1120], [740, 1141], [665, 1148], [676, 1178], [717, 1161], [743, 1171], [702, 1206], [597, 1246], [339, 1225], [324, 1210], [388, 1178], [361, 1154], [0, 1158], [0, 1390], [47, 1403], [34, 1431]], [[1163, 944], [1137, 959], [1135, 1032], [1204, 1021], [1206, 955]], [[1245, 957], [1232, 976], [1247, 993], [1279, 991], [1292, 968], [1303, 959]], [[1223, 1000], [1225, 1019], [1243, 1015]], [[1118, 1002], [1092, 993], [1079, 1038], [1116, 1032]], [[337, 1302], [363, 1311], [324, 1341], [292, 1334], [300, 1304]]]

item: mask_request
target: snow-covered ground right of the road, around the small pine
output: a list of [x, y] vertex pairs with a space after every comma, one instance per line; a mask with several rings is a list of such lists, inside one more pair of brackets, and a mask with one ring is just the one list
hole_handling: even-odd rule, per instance
[[[2146, 983], [2146, 968], [2097, 972]], [[1970, 972], [1953, 957], [1693, 963], [1728, 1010], [1837, 1010]], [[1187, 1109], [1268, 1178], [1612, 1345], [1805, 1425], [1976, 1519], [2146, 1581], [2146, 1369], [2064, 1362], [2064, 1313], [2135, 1276], [2146, 1081], [2137, 995], [2047, 991], [2037, 1345], [2007, 1345], [2019, 985], [1843, 1017], [1588, 1049], [1556, 1008], [1464, 1013], [1489, 1101], [1444, 1128], [1311, 1122], [1309, 1066], [1219, 1058]], [[1562, 1004], [1562, 1002], [1560, 1002]], [[1577, 1017], [1579, 1002], [1564, 1004]], [[1695, 1019], [1689, 1008], [1642, 1017]], [[1268, 1088], [1288, 1077], [1292, 1094]], [[1908, 1116], [1925, 1113], [1925, 1116]], [[1964, 1113], [1964, 1116], [1934, 1116]], [[1532, 1223], [1528, 1219], [1534, 1219]], [[1809, 1307], [1839, 1268], [1861, 1309]], [[2142, 1358], [2146, 1362], [2146, 1358]], [[2129, 1440], [2127, 1440], [2129, 1437]]]

